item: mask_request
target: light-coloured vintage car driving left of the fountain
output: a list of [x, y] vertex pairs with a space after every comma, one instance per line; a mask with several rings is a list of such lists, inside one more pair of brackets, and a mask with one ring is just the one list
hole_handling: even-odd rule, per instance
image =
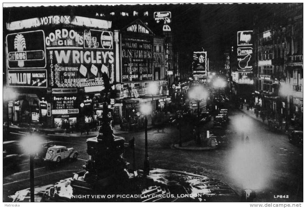
[[76, 159], [78, 152], [74, 148], [67, 148], [65, 146], [55, 145], [49, 147], [46, 153], [45, 161], [61, 162], [65, 159]]

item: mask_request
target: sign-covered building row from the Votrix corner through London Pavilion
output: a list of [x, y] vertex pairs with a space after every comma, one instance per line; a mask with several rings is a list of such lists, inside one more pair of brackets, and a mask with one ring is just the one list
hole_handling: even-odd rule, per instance
[[[162, 60], [154, 81], [155, 35], [140, 20], [113, 30], [111, 21], [52, 15], [8, 22], [5, 34], [7, 87], [16, 95], [8, 101], [9, 122], [62, 129], [98, 122], [104, 72], [114, 84], [116, 123], [140, 114], [141, 103], [155, 110], [166, 102]], [[164, 57], [162, 38], [156, 41], [156, 57]]]

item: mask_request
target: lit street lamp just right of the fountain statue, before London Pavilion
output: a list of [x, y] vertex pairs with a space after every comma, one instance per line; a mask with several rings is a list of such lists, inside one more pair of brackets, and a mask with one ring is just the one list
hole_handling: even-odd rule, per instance
[[150, 172], [150, 163], [148, 156], [148, 120], [147, 115], [152, 111], [151, 106], [149, 104], [143, 104], [140, 106], [140, 112], [144, 115], [144, 146], [145, 146], [145, 154], [144, 154], [144, 175], [148, 175]]

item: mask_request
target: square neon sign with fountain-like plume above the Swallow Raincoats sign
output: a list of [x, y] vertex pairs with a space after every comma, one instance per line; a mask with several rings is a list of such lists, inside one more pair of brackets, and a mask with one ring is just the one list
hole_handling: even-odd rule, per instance
[[12, 33], [6, 36], [9, 69], [46, 67], [45, 33], [43, 30]]

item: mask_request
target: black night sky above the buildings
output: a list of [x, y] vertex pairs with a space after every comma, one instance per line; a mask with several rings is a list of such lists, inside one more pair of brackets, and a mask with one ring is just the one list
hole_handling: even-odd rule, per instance
[[[157, 35], [162, 33], [162, 23], [153, 19], [155, 11], [171, 11], [174, 50], [178, 51], [180, 63], [185, 67], [192, 61], [192, 51], [207, 51], [211, 61], [222, 63], [223, 54], [237, 44], [237, 31], [252, 30], [257, 15], [263, 22], [271, 19], [275, 12], [282, 12], [284, 4], [159, 4], [118, 6], [65, 6], [65, 7], [9, 7], [3, 8], [3, 23], [48, 15], [79, 15], [91, 18], [96, 13], [105, 13], [101, 19], [112, 20], [112, 29], [121, 29], [134, 21], [133, 11], [139, 12], [142, 21]], [[108, 17], [114, 11], [129, 12], [129, 17]], [[143, 16], [148, 11], [149, 16]], [[5, 25], [5, 24], [3, 24]], [[4, 33], [6, 33], [4, 28]], [[5, 36], [4, 36], [5, 37]]]

